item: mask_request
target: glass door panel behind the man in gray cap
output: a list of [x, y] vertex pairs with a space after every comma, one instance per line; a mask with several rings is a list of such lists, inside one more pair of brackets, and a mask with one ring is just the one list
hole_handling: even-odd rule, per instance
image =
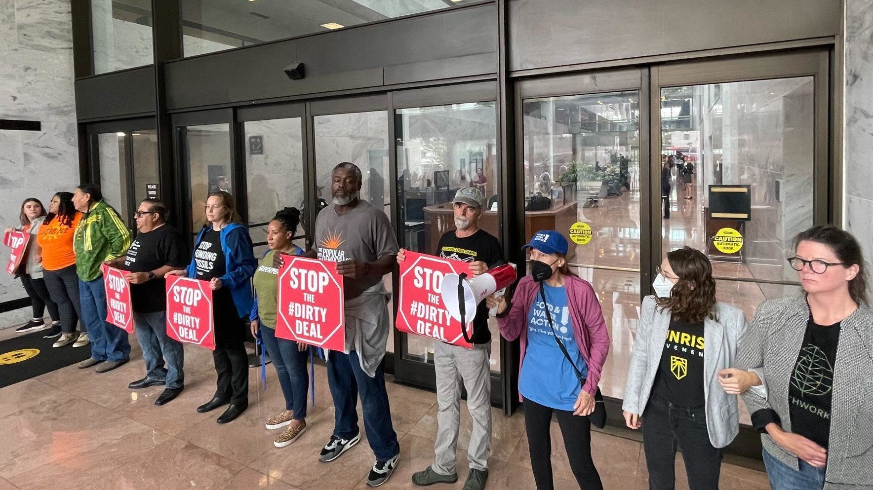
[[[455, 229], [451, 201], [461, 187], [485, 195], [479, 227], [499, 237], [497, 123], [494, 102], [413, 107], [395, 111], [397, 201], [403, 246], [435, 254], [440, 236]], [[500, 333], [491, 330], [491, 370], [500, 371]], [[433, 340], [402, 334], [405, 358], [433, 363]]]

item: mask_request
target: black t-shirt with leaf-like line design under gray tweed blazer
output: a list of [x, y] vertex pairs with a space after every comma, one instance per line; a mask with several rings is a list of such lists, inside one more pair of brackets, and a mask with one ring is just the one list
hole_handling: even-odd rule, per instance
[[791, 432], [822, 447], [828, 447], [834, 362], [839, 341], [840, 323], [818, 325], [810, 316], [788, 386]]

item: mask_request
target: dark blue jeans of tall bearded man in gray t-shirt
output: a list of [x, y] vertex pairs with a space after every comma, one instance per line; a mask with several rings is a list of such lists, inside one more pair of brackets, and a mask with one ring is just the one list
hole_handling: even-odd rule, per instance
[[[384, 361], [382, 361], [384, 364]], [[391, 409], [388, 406], [388, 391], [385, 390], [385, 373], [382, 364], [376, 370], [375, 378], [361, 370], [358, 353], [348, 354], [331, 350], [327, 360], [327, 385], [333, 397], [336, 411], [333, 435], [342, 439], [352, 439], [358, 435], [358, 393], [364, 412], [364, 430], [370, 448], [377, 460], [394, 458], [400, 453], [397, 433], [391, 425]]]

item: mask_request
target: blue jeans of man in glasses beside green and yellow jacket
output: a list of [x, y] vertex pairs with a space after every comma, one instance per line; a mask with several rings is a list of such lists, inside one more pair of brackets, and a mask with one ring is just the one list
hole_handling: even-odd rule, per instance
[[[182, 371], [185, 351], [181, 342], [167, 335], [167, 312], [134, 311], [134, 324], [148, 378], [164, 381], [170, 389], [181, 390], [185, 385], [185, 372]], [[164, 367], [164, 361], [167, 361], [167, 367]]]

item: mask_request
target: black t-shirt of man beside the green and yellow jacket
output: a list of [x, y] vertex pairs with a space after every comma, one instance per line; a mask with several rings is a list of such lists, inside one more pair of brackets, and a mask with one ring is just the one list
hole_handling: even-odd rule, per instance
[[[150, 272], [165, 265], [185, 267], [188, 254], [185, 238], [179, 230], [162, 225], [148, 233], [138, 233], [127, 248], [121, 269], [130, 272]], [[153, 313], [166, 307], [166, 285], [163, 278], [130, 285], [130, 302], [138, 313]]]

